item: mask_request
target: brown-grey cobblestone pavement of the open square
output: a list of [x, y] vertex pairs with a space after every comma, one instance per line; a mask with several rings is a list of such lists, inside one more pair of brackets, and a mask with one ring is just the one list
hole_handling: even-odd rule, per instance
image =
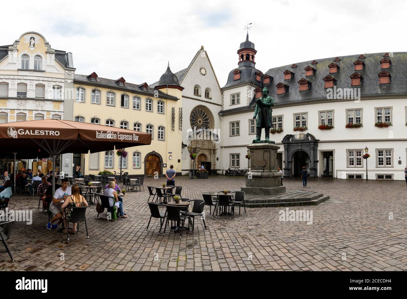
[[[164, 179], [146, 179], [160, 186]], [[183, 197], [201, 192], [239, 189], [244, 177], [176, 178]], [[284, 179], [287, 189], [302, 189], [300, 179]], [[407, 187], [404, 181], [309, 179], [307, 190], [330, 199], [317, 206], [293, 207], [313, 212], [313, 224], [280, 221], [280, 207], [249, 208], [234, 218], [199, 218], [195, 231], [158, 235], [159, 220], [149, 220], [148, 190], [125, 197], [127, 219], [107, 222], [87, 210], [90, 238], [47, 230], [47, 216], [37, 197], [15, 195], [10, 209], [32, 209], [33, 223], [17, 223], [7, 241], [13, 257], [0, 245], [1, 270], [66, 271], [251, 271], [407, 270]], [[291, 207], [290, 207], [291, 210]], [[209, 214], [209, 213], [208, 213]], [[168, 230], [167, 230], [168, 231]], [[62, 255], [63, 253], [63, 258]]]

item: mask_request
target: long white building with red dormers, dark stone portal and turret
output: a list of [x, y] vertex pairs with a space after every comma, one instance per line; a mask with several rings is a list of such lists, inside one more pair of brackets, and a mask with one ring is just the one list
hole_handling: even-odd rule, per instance
[[367, 169], [369, 179], [404, 179], [406, 54], [315, 59], [262, 72], [247, 35], [238, 67], [222, 87], [224, 168], [247, 167], [247, 144], [256, 136], [254, 100], [267, 87], [274, 98], [270, 140], [280, 146], [284, 176], [300, 176], [306, 166], [311, 177], [366, 179]]

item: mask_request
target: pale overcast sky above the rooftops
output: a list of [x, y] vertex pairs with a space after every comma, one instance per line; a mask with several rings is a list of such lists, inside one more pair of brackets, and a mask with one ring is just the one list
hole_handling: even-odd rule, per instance
[[[407, 1], [19, 1], [2, 14], [0, 44], [27, 31], [73, 53], [77, 74], [131, 83], [158, 81], [170, 61], [177, 72], [204, 46], [221, 87], [252, 22], [256, 68], [361, 53], [406, 51]], [[11, 24], [11, 26], [6, 26]]]

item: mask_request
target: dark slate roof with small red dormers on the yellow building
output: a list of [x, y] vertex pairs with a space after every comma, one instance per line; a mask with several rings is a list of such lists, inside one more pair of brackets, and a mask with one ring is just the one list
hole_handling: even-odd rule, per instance
[[[99, 87], [106, 87], [109, 88], [111, 87], [112, 89], [116, 90], [123, 90], [123, 91], [128, 91], [128, 92], [133, 92], [136, 94], [145, 94], [149, 96], [154, 96], [154, 91], [157, 90], [154, 87], [147, 87], [148, 90], [143, 90], [141, 87], [143, 84], [133, 84], [129, 82], [125, 82], [125, 86], [120, 86], [116, 83], [117, 79], [107, 79], [107, 78], [102, 78], [102, 77], [97, 77], [97, 81], [92, 81], [88, 75], [80, 75], [80, 74], [75, 74], [74, 75], [74, 83], [80, 84], [80, 83], [86, 83], [88, 85], [92, 86], [99, 86]], [[160, 90], [158, 91], [158, 95], [160, 98], [165, 98], [169, 100], [178, 100], [177, 97], [175, 96], [170, 96], [164, 92], [161, 92]]]

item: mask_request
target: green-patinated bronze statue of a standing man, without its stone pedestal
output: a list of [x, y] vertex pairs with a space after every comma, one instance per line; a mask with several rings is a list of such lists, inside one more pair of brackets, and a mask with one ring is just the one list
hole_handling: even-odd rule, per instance
[[256, 143], [260, 140], [261, 129], [265, 129], [266, 141], [269, 141], [270, 137], [270, 128], [271, 128], [271, 106], [274, 106], [274, 98], [267, 96], [269, 89], [267, 87], [263, 88], [263, 96], [256, 99], [256, 110], [254, 110], [253, 119], [256, 119], [256, 139], [253, 140], [253, 143]]

